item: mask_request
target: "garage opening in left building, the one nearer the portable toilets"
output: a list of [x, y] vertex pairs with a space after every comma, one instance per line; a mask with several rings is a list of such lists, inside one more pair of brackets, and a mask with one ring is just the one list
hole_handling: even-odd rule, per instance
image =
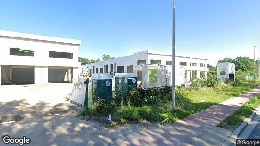
[[48, 67], [48, 82], [71, 83], [72, 68], [70, 67]]

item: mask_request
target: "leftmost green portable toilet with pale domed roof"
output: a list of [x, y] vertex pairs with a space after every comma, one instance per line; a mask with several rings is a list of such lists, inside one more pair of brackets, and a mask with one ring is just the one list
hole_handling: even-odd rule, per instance
[[107, 73], [93, 73], [93, 100], [112, 98], [112, 77]]

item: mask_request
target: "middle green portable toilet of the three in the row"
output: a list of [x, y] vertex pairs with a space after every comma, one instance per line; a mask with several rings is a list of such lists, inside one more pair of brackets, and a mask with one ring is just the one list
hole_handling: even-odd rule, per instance
[[127, 74], [128, 73], [115, 73], [115, 97], [116, 98], [121, 98], [127, 95], [127, 89], [128, 89], [128, 84], [127, 84]]

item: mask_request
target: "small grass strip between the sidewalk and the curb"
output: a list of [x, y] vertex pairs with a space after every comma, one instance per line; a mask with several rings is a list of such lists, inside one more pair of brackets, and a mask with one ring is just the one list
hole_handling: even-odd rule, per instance
[[224, 121], [217, 126], [229, 130], [236, 129], [246, 118], [248, 118], [253, 111], [260, 105], [260, 95], [252, 97], [241, 108], [236, 110], [233, 114], [228, 116]]

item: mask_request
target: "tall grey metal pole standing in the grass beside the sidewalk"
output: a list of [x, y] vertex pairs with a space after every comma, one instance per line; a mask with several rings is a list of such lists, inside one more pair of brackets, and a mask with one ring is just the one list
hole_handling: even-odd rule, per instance
[[173, 0], [173, 20], [172, 20], [172, 98], [171, 106], [175, 109], [175, 0]]

